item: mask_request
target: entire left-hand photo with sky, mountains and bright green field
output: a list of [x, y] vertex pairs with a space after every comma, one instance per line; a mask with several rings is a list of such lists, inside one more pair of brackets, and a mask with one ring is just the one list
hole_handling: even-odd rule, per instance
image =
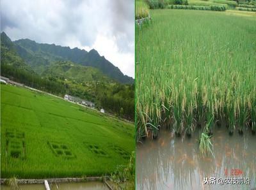
[[0, 189], [135, 189], [134, 6], [1, 1]]

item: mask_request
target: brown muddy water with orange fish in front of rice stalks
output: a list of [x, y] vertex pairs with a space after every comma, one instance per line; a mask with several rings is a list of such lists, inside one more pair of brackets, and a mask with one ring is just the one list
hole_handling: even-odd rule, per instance
[[[211, 138], [215, 158], [202, 158], [199, 133], [188, 138], [162, 130], [157, 140], [138, 143], [136, 189], [256, 189], [255, 135], [248, 130], [243, 136], [229, 136], [226, 128], [215, 128]], [[203, 184], [205, 177], [214, 177], [216, 184]], [[225, 178], [250, 178], [250, 184], [223, 184]]]

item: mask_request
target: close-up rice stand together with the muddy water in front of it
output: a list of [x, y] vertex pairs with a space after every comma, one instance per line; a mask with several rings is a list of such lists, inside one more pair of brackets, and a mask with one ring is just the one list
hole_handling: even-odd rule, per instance
[[[136, 186], [253, 188], [256, 15], [165, 8], [136, 25]], [[236, 169], [250, 184], [203, 184]]]

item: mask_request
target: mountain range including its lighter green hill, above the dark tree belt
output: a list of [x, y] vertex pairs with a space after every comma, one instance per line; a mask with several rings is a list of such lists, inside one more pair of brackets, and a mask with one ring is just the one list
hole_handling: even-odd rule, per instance
[[[104, 56], [100, 56], [94, 49], [86, 52], [86, 50], [79, 48], [36, 43], [36, 41], [29, 39], [12, 41], [4, 32], [1, 33], [1, 48], [4, 48], [4, 59], [8, 59], [8, 54], [17, 58], [15, 61], [9, 60], [8, 62], [13, 64], [19, 62], [19, 67], [22, 66], [28, 71], [34, 71], [38, 75], [68, 76], [81, 81], [113, 80], [122, 84], [134, 82], [132, 77], [124, 75], [119, 68], [105, 59]], [[13, 56], [9, 57], [13, 59]]]

